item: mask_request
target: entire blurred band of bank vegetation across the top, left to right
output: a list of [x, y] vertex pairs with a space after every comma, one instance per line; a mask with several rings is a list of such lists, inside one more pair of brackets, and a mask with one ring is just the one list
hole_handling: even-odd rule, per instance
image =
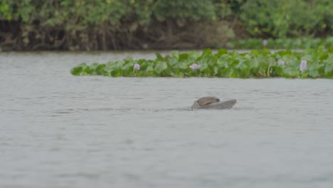
[[331, 0], [0, 0], [4, 50], [223, 47], [332, 35]]

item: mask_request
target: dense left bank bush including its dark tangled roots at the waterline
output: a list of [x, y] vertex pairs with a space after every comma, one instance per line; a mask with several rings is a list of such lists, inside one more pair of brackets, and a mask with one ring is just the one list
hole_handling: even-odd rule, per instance
[[[0, 33], [11, 29], [0, 36], [0, 43], [17, 38], [12, 45], [30, 49], [132, 48], [166, 39], [181, 41], [186, 36], [172, 36], [186, 31], [186, 26], [195, 30], [194, 22], [213, 23], [229, 14], [224, 0], [2, 0]], [[16, 27], [10, 27], [15, 23]]]

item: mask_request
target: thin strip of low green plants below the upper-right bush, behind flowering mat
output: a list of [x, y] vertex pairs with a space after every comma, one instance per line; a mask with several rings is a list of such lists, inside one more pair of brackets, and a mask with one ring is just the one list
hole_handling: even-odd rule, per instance
[[234, 49], [310, 49], [324, 46], [329, 48], [333, 46], [333, 37], [327, 38], [268, 38], [267, 45], [263, 45], [263, 39], [260, 38], [248, 38], [238, 41], [229, 41], [226, 43], [228, 48]]

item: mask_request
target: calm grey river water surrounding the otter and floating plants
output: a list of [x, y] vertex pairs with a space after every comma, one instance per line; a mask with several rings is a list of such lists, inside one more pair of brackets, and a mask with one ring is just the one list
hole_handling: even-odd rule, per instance
[[333, 80], [70, 75], [127, 56], [0, 53], [1, 188], [333, 187]]

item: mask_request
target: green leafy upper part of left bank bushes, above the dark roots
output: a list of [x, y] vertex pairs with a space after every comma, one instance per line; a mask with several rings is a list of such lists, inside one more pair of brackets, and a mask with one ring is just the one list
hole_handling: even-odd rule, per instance
[[105, 22], [113, 26], [122, 22], [147, 24], [154, 18], [159, 21], [176, 19], [179, 23], [214, 20], [222, 15], [221, 8], [228, 9], [228, 6], [223, 1], [213, 0], [1, 0], [0, 19], [22, 19], [23, 23], [30, 24], [37, 19], [43, 26], [80, 29]]

